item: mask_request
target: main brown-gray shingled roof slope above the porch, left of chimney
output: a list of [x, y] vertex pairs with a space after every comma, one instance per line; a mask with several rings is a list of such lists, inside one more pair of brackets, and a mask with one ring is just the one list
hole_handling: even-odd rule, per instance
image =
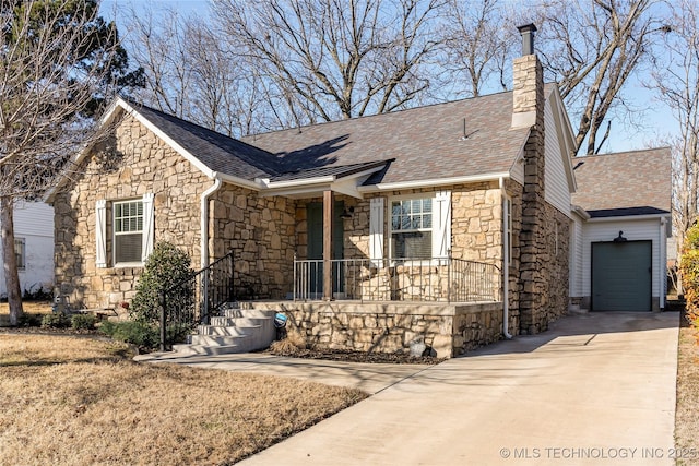
[[[465, 133], [464, 140], [464, 120]], [[512, 93], [244, 138], [282, 171], [395, 159], [365, 184], [509, 172], [529, 134], [511, 130]]]

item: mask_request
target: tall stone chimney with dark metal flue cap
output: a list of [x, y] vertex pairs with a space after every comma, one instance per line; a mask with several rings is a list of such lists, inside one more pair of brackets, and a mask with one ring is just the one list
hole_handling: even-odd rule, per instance
[[550, 260], [546, 250], [544, 200], [544, 77], [534, 53], [536, 26], [518, 27], [522, 57], [513, 63], [512, 128], [529, 128], [524, 145], [524, 189], [520, 230], [520, 332], [534, 334], [548, 326]]

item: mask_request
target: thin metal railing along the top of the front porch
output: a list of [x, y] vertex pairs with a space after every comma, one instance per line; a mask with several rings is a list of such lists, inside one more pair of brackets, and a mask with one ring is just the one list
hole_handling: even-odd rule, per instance
[[[294, 259], [294, 299], [323, 296], [322, 260]], [[359, 301], [500, 301], [494, 264], [454, 258], [340, 259], [330, 261], [333, 296]]]

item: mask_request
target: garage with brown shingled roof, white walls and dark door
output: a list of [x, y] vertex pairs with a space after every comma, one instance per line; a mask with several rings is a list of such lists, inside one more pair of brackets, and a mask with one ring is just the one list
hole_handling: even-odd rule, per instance
[[667, 147], [574, 158], [571, 311], [665, 308], [671, 160]]

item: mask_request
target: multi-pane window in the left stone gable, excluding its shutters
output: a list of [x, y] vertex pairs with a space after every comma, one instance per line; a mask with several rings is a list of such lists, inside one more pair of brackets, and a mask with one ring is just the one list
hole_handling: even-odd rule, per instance
[[114, 262], [141, 262], [143, 202], [114, 203]]

